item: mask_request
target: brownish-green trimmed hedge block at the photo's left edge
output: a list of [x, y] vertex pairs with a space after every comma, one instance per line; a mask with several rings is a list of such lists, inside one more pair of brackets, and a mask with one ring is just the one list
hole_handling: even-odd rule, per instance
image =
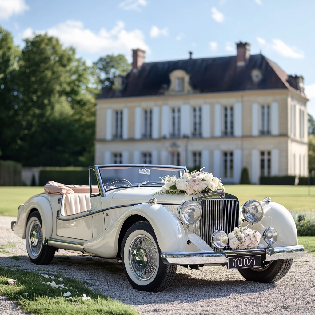
[[0, 160], [0, 186], [21, 186], [22, 164]]

